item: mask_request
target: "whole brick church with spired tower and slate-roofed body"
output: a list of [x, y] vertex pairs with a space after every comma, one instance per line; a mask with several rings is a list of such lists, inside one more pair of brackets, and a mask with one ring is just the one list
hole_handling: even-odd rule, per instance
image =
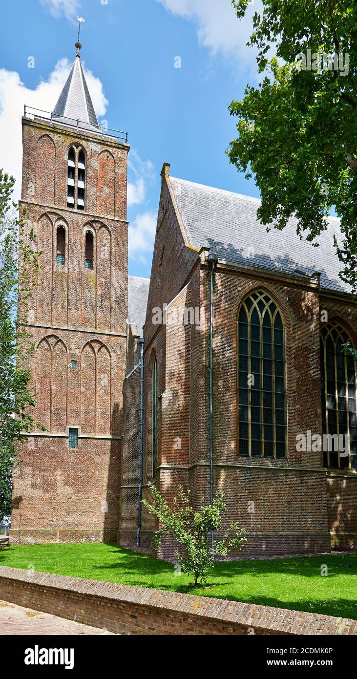
[[[150, 280], [128, 276], [127, 136], [99, 126], [81, 45], [49, 117], [22, 118], [20, 213], [41, 268], [29, 329], [37, 426], [12, 544], [150, 551], [141, 500], [222, 490], [241, 555], [357, 547], [357, 303], [330, 217], [319, 247], [259, 200], [162, 168]], [[159, 549], [174, 556], [168, 539]]]

